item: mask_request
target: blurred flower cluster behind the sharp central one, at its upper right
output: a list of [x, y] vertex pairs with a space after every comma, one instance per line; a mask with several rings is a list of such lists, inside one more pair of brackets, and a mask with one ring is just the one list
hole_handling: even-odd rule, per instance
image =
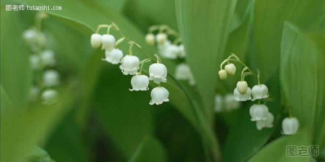
[[[158, 31], [155, 35], [154, 32]], [[168, 37], [175, 37], [171, 42]], [[158, 54], [167, 59], [182, 59], [182, 63], [176, 65], [175, 78], [180, 81], [189, 81], [191, 86], [195, 85], [195, 79], [191, 72], [190, 66], [185, 62], [185, 48], [181, 43], [179, 34], [166, 25], [151, 26], [145, 41], [149, 45], [157, 44]]]

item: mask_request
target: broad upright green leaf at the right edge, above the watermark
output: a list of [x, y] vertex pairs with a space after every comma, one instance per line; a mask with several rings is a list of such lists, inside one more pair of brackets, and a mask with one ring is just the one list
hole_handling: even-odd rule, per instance
[[280, 81], [285, 103], [301, 127], [318, 138], [324, 119], [324, 54], [313, 38], [286, 22], [283, 29]]

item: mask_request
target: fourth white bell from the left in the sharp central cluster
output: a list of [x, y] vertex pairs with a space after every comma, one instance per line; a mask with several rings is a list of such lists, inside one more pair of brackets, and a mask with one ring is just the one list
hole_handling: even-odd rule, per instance
[[139, 58], [134, 55], [126, 55], [121, 60], [120, 69], [124, 75], [135, 75], [139, 69]]

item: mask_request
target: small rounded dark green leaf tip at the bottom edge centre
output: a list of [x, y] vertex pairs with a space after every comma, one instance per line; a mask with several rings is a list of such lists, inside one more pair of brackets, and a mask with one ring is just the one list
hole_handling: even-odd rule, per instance
[[128, 162], [167, 162], [167, 156], [162, 143], [147, 135], [143, 137]]

